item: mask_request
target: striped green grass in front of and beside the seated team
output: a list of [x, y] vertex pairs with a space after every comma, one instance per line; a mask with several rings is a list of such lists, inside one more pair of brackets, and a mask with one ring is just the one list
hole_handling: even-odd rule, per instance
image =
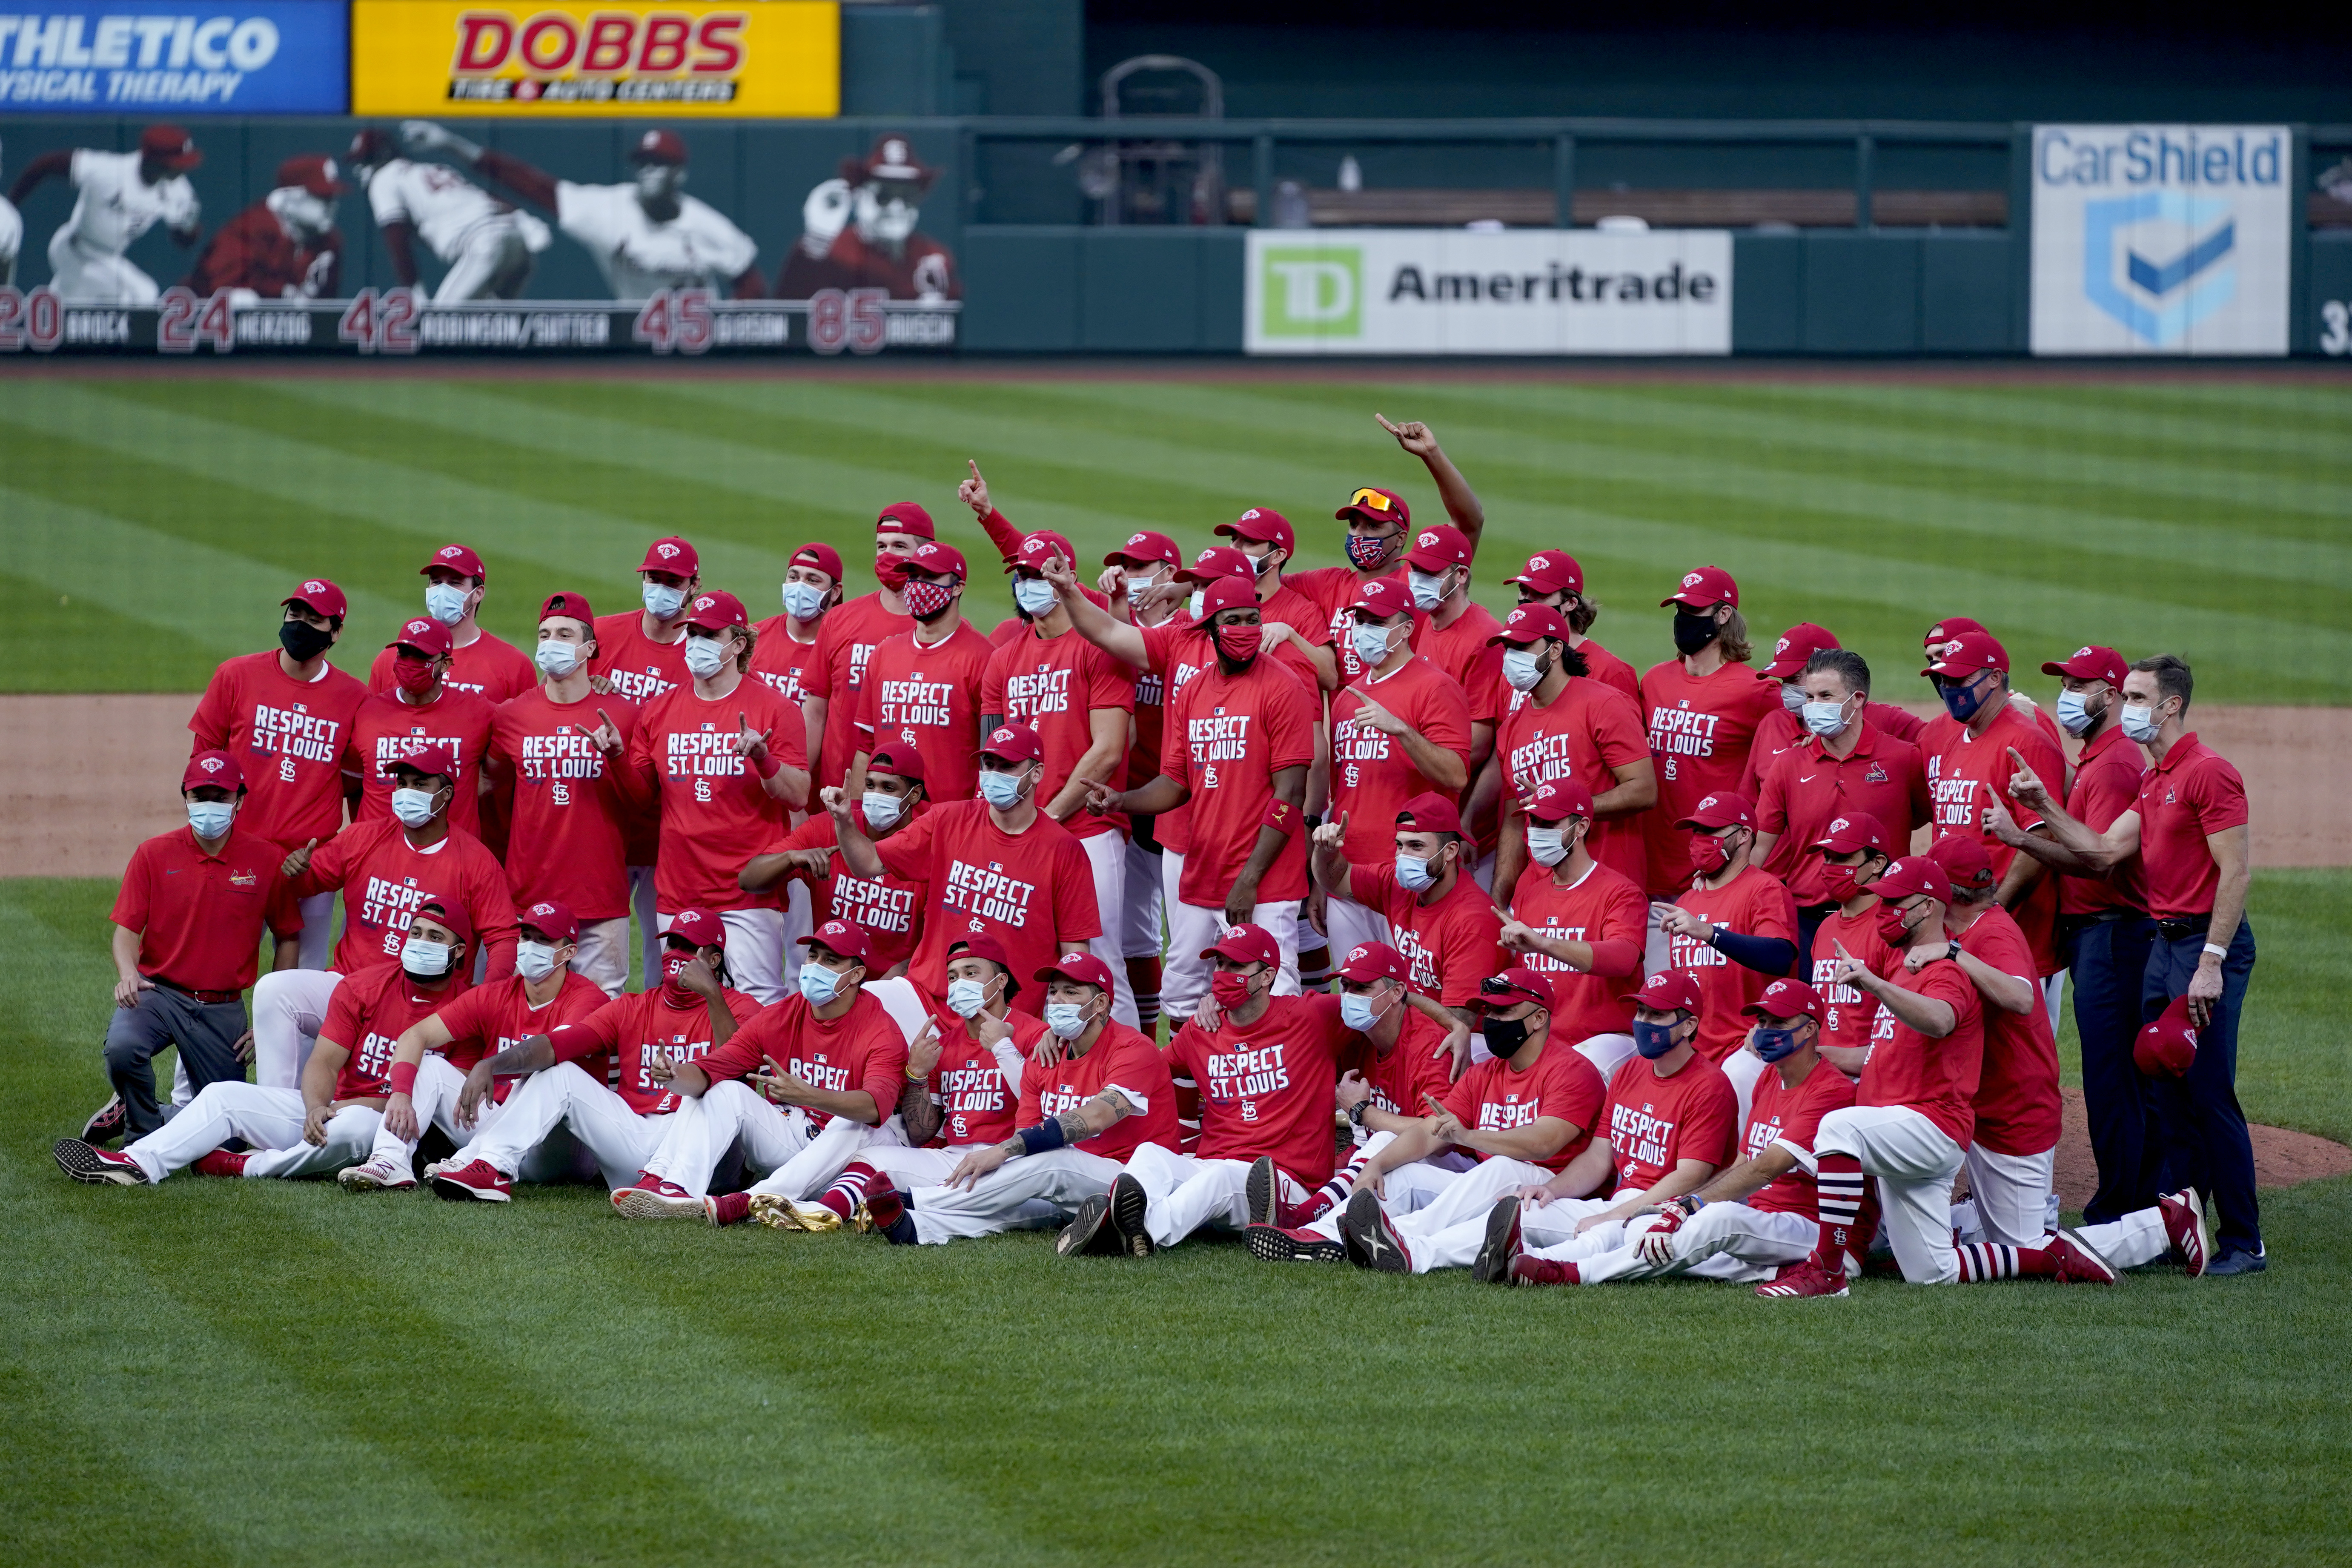
[[[94, 1190], [108, 893], [0, 884], [0, 1561], [2352, 1559], [2352, 1180], [2256, 1279], [1802, 1305]], [[2246, 1107], [2347, 1138], [2352, 872], [2253, 919]]]

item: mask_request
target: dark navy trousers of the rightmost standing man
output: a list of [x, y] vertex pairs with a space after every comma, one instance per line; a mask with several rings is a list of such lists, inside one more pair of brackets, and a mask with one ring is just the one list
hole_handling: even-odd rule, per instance
[[[2147, 980], [2140, 985], [2140, 1016], [2152, 1020], [2164, 1006], [2187, 992], [2204, 957], [2201, 936], [2166, 940], [2157, 936], [2147, 952]], [[2230, 957], [2220, 961], [2220, 1001], [2206, 1027], [2197, 1030], [2197, 1060], [2187, 1077], [2147, 1079], [2157, 1112], [2157, 1135], [2164, 1143], [2161, 1187], [2197, 1187], [2220, 1211], [2216, 1241], [2220, 1251], [2263, 1248], [2263, 1206], [2253, 1194], [2253, 1140], [2246, 1135], [2246, 1112], [2237, 1105], [2237, 1016], [2246, 1006], [2246, 980], [2253, 976], [2253, 926], [2237, 922]]]

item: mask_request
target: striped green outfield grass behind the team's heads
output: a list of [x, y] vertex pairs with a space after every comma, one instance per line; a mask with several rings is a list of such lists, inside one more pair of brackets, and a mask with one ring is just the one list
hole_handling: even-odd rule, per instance
[[1138, 527], [1188, 548], [1244, 505], [1338, 562], [1334, 503], [1421, 465], [1371, 423], [1428, 418], [1489, 512], [1482, 595], [1573, 550], [1597, 635], [1646, 665], [1693, 564], [1738, 574], [1759, 644], [1820, 621], [1929, 698], [1919, 632], [1973, 614], [2020, 684], [2084, 642], [2171, 649], [2199, 698], [2347, 703], [2314, 658], [2352, 590], [2352, 388], [2319, 381], [1051, 381], [14, 378], [0, 383], [0, 689], [193, 691], [266, 646], [287, 583], [353, 592], [365, 668], [419, 604], [416, 564], [463, 538], [492, 630], [527, 642], [555, 588], [635, 602], [644, 543], [682, 531], [703, 578], [776, 609], [786, 557], [837, 543], [870, 585], [870, 520], [934, 510], [1009, 614], [955, 501], [981, 458], [1004, 510], [1084, 555]]

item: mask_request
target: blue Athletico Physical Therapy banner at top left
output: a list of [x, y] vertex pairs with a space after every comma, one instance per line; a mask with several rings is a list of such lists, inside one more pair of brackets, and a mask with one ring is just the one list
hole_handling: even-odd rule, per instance
[[52, 0], [0, 12], [0, 113], [339, 115], [343, 0]]

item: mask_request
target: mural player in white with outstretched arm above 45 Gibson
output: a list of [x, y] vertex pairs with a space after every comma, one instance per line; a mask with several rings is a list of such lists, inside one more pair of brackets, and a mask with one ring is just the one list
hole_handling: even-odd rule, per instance
[[626, 306], [663, 289], [710, 289], [760, 299], [760, 247], [750, 235], [687, 195], [687, 143], [677, 132], [644, 132], [628, 150], [626, 186], [576, 186], [513, 153], [466, 141], [430, 120], [402, 120], [412, 153], [440, 153], [499, 181], [524, 202], [555, 214], [555, 226], [595, 256], [612, 296]]

